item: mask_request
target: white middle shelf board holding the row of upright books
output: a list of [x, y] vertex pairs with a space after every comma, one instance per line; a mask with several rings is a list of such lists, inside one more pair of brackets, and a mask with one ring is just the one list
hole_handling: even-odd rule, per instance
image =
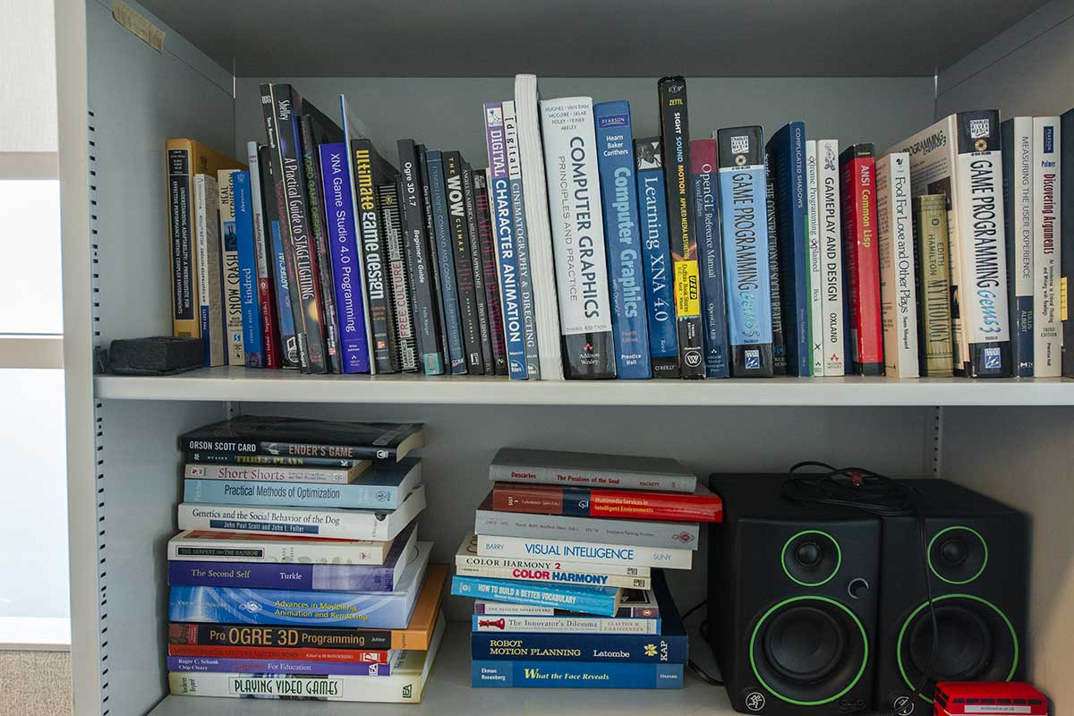
[[781, 377], [751, 380], [511, 381], [503, 377], [310, 376], [202, 368], [177, 376], [98, 376], [98, 398], [423, 405], [1047, 406], [1074, 405], [1074, 380]]

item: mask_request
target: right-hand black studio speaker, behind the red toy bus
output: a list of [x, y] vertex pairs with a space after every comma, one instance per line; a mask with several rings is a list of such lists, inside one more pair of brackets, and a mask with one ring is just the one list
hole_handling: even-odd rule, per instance
[[945, 480], [899, 482], [920, 496], [925, 544], [914, 516], [883, 518], [876, 705], [928, 714], [938, 681], [1022, 678], [1029, 527], [1020, 512]]

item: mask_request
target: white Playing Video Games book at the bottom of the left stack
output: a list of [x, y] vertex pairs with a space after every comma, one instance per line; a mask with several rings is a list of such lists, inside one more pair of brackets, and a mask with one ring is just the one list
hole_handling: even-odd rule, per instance
[[172, 671], [168, 683], [176, 696], [208, 696], [313, 701], [419, 703], [447, 626], [441, 616], [427, 651], [405, 651], [389, 676], [293, 676]]

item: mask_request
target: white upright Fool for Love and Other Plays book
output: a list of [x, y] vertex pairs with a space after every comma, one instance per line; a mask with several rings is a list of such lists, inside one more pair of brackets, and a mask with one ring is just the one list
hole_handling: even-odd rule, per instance
[[904, 151], [876, 161], [876, 227], [884, 374], [890, 378], [918, 378], [914, 224], [910, 156]]

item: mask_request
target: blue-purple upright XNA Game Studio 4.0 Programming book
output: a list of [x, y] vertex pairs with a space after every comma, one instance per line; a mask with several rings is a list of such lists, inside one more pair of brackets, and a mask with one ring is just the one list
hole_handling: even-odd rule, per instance
[[344, 372], [369, 372], [369, 344], [362, 295], [362, 261], [358, 251], [354, 198], [347, 166], [347, 145], [320, 145], [324, 223], [332, 254], [332, 278], [339, 322], [339, 354]]

